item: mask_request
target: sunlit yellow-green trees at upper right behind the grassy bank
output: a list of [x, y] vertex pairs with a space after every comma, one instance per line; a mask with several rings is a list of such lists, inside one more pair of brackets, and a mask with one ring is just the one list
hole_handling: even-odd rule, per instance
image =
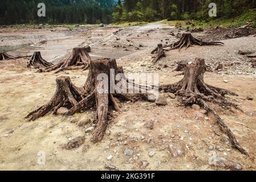
[[256, 0], [119, 0], [112, 18], [114, 22], [207, 19], [212, 2], [217, 4], [218, 18], [237, 16], [256, 7]]

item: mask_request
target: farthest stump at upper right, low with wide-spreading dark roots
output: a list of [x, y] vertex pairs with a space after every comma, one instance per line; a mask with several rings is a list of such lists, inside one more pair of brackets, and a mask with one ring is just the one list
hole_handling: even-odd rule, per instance
[[[197, 38], [194, 38], [190, 32], [184, 32], [181, 35], [180, 40], [177, 42], [170, 44], [170, 45], [165, 45], [164, 48], [170, 47], [169, 50], [172, 49], [179, 49], [181, 50], [182, 47], [185, 47], [185, 49], [189, 48], [190, 46], [193, 45], [198, 45], [198, 46], [216, 46], [216, 45], [223, 45], [224, 43], [222, 42], [204, 42], [202, 40], [199, 40]], [[156, 52], [157, 48], [152, 51], [152, 53]]]

